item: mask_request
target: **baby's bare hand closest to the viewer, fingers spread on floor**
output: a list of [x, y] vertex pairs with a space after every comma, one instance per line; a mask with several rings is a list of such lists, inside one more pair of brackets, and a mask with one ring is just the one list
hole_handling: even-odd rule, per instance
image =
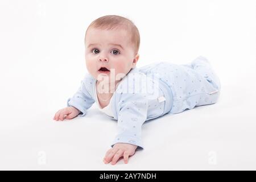
[[125, 163], [128, 163], [129, 155], [134, 155], [135, 150], [138, 146], [129, 143], [116, 143], [113, 148], [110, 148], [103, 159], [105, 164], [112, 161], [112, 165], [117, 163], [117, 160], [123, 156]]

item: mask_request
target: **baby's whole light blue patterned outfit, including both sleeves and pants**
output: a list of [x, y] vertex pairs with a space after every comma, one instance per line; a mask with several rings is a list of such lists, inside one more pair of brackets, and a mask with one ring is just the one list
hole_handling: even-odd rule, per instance
[[[79, 90], [67, 101], [68, 106], [81, 111], [80, 117], [86, 115], [96, 101], [96, 81], [86, 73]], [[144, 82], [150, 92], [144, 92]], [[143, 149], [141, 127], [145, 121], [164, 114], [181, 113], [195, 106], [214, 104], [220, 96], [220, 89], [219, 78], [202, 56], [190, 64], [160, 62], [131, 69], [112, 96], [118, 134], [111, 147], [115, 143], [130, 143]]]

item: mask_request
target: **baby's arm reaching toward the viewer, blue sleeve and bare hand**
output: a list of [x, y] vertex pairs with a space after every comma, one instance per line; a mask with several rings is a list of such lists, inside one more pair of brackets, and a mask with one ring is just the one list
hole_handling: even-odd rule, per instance
[[118, 135], [112, 143], [113, 148], [105, 154], [103, 161], [106, 164], [115, 164], [122, 156], [127, 163], [129, 156], [134, 155], [137, 148], [143, 149], [141, 127], [147, 118], [148, 100], [142, 94], [124, 96], [122, 100], [126, 102], [120, 102], [122, 104], [119, 106], [122, 109], [118, 113]]

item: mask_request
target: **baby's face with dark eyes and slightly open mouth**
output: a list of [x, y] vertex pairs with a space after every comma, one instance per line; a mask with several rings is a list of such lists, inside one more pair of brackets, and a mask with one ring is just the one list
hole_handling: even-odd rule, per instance
[[[106, 80], [110, 82], [111, 72], [111, 76], [114, 75], [116, 82], [120, 75], [127, 75], [130, 69], [135, 67], [138, 59], [139, 55], [135, 55], [134, 45], [130, 43], [130, 35], [125, 30], [89, 28], [87, 31], [85, 38], [86, 67], [97, 80], [101, 80], [100, 76], [107, 76], [109, 79]], [[104, 71], [106, 69], [102, 69], [102, 67], [109, 71]], [[113, 82], [113, 77], [111, 82]]]

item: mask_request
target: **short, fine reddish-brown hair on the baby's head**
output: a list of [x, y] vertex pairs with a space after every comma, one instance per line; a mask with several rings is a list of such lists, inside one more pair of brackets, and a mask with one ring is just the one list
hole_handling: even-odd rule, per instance
[[116, 30], [125, 30], [127, 32], [130, 32], [131, 43], [134, 43], [135, 53], [138, 53], [139, 43], [140, 43], [139, 30], [131, 20], [118, 15], [101, 16], [100, 18], [97, 18], [92, 23], [90, 23], [90, 25], [88, 26], [85, 32], [85, 38], [86, 38], [86, 33], [90, 27], [100, 28], [102, 30], [116, 29]]

